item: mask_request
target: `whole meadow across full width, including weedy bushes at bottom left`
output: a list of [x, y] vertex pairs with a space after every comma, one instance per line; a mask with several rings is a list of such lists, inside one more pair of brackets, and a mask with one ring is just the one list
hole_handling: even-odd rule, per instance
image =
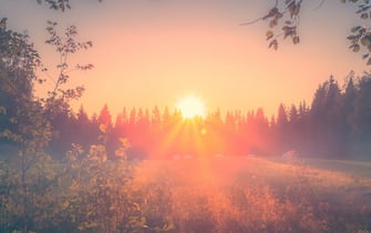
[[38, 166], [27, 189], [2, 163], [0, 232], [371, 232], [368, 162], [102, 159]]

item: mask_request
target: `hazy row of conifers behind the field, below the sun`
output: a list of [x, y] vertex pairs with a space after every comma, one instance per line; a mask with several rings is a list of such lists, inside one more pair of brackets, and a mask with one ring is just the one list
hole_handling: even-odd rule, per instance
[[[107, 131], [109, 156], [122, 140], [130, 144], [127, 156], [171, 159], [184, 156], [277, 155], [296, 150], [305, 156], [370, 159], [371, 75], [351, 73], [343, 87], [331, 75], [313, 94], [311, 104], [280, 104], [268, 118], [262, 108], [209, 112], [205, 118], [184, 119], [178, 110], [124, 108], [113, 118], [107, 105], [91, 116], [59, 112], [51, 121], [51, 154], [64, 156], [72, 143], [87, 146]], [[4, 121], [1, 122], [4, 126]], [[4, 141], [3, 141], [4, 142]]]

